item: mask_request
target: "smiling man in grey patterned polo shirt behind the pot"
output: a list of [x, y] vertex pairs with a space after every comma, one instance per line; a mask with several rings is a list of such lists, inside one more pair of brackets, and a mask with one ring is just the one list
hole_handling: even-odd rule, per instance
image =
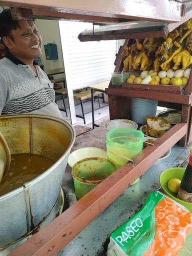
[[41, 36], [33, 21], [12, 20], [10, 9], [0, 13], [0, 113], [38, 113], [62, 117], [52, 83], [34, 64], [41, 55]]

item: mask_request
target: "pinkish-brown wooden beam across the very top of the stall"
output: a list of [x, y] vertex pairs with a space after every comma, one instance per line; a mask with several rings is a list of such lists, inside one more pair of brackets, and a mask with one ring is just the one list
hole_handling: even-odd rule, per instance
[[181, 0], [0, 0], [0, 5], [21, 8], [18, 18], [167, 23], [180, 21], [185, 6]]

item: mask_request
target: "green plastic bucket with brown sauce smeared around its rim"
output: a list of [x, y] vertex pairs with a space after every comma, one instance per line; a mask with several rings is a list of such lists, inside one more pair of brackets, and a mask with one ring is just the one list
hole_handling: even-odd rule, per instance
[[101, 157], [90, 157], [76, 162], [72, 166], [72, 177], [77, 200], [114, 171], [114, 164]]

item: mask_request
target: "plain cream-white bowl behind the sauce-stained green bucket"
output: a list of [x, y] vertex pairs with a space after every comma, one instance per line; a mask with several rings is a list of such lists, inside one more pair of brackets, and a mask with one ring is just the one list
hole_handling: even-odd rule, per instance
[[68, 165], [72, 167], [77, 161], [88, 157], [102, 157], [107, 159], [106, 151], [99, 147], [82, 147], [69, 154]]

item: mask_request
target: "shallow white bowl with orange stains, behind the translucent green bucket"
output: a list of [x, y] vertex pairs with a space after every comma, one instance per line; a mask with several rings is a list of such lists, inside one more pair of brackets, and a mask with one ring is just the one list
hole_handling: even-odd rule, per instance
[[116, 129], [116, 128], [133, 128], [136, 129], [138, 124], [132, 120], [128, 119], [113, 119], [104, 123], [104, 128], [106, 130]]

